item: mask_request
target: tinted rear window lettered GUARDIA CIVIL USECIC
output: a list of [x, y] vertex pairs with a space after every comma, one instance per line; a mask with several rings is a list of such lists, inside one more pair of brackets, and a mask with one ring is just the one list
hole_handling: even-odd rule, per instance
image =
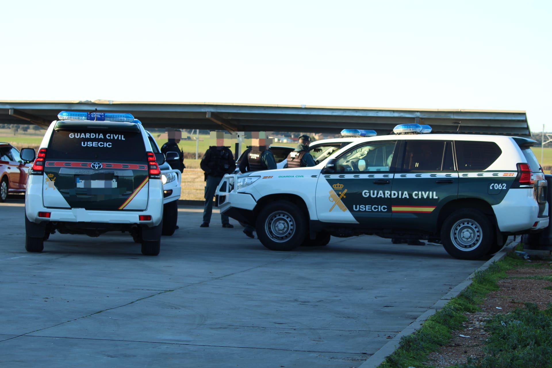
[[140, 130], [54, 130], [47, 157], [57, 159], [147, 161]]

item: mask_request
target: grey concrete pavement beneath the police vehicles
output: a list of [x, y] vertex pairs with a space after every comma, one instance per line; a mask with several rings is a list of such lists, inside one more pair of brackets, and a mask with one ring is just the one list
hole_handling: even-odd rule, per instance
[[9, 367], [358, 367], [485, 260], [373, 236], [272, 252], [242, 227], [179, 229], [145, 257], [128, 234], [24, 249], [0, 204], [0, 363]]

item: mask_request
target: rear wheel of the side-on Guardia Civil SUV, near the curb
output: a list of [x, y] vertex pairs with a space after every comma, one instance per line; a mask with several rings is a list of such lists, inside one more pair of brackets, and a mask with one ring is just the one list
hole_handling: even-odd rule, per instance
[[495, 234], [491, 221], [476, 209], [457, 210], [441, 228], [441, 241], [447, 253], [459, 259], [479, 259], [489, 253]]

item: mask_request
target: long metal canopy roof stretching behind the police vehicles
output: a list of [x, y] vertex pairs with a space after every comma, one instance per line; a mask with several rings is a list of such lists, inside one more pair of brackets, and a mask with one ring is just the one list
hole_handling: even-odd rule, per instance
[[0, 101], [0, 123], [47, 127], [62, 110], [130, 113], [146, 128], [338, 133], [373, 129], [389, 134], [397, 124], [428, 124], [436, 133], [530, 136], [525, 111], [347, 108], [307, 105], [119, 101]]

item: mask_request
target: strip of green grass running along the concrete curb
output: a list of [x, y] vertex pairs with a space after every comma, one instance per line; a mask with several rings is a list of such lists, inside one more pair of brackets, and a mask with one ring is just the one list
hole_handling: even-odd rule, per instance
[[[402, 337], [399, 348], [385, 358], [385, 361], [379, 365], [379, 368], [424, 366], [423, 362], [426, 361], [427, 355], [432, 351], [437, 351], [439, 346], [447, 344], [452, 338], [452, 331], [460, 329], [462, 323], [468, 321], [465, 313], [479, 312], [480, 308], [478, 305], [481, 304], [482, 298], [491, 291], [497, 290], [497, 281], [507, 278], [506, 271], [516, 268], [518, 265], [526, 265], [526, 262], [516, 256], [508, 255], [503, 260], [490, 264], [486, 270], [476, 271], [471, 285], [462, 291], [458, 297], [452, 298], [441, 310], [429, 317], [419, 330]], [[550, 329], [547, 333], [549, 332]], [[465, 368], [475, 366], [466, 366]], [[485, 367], [510, 366], [489, 365]], [[525, 365], [525, 367], [529, 366], [534, 365], [529, 363]]]

